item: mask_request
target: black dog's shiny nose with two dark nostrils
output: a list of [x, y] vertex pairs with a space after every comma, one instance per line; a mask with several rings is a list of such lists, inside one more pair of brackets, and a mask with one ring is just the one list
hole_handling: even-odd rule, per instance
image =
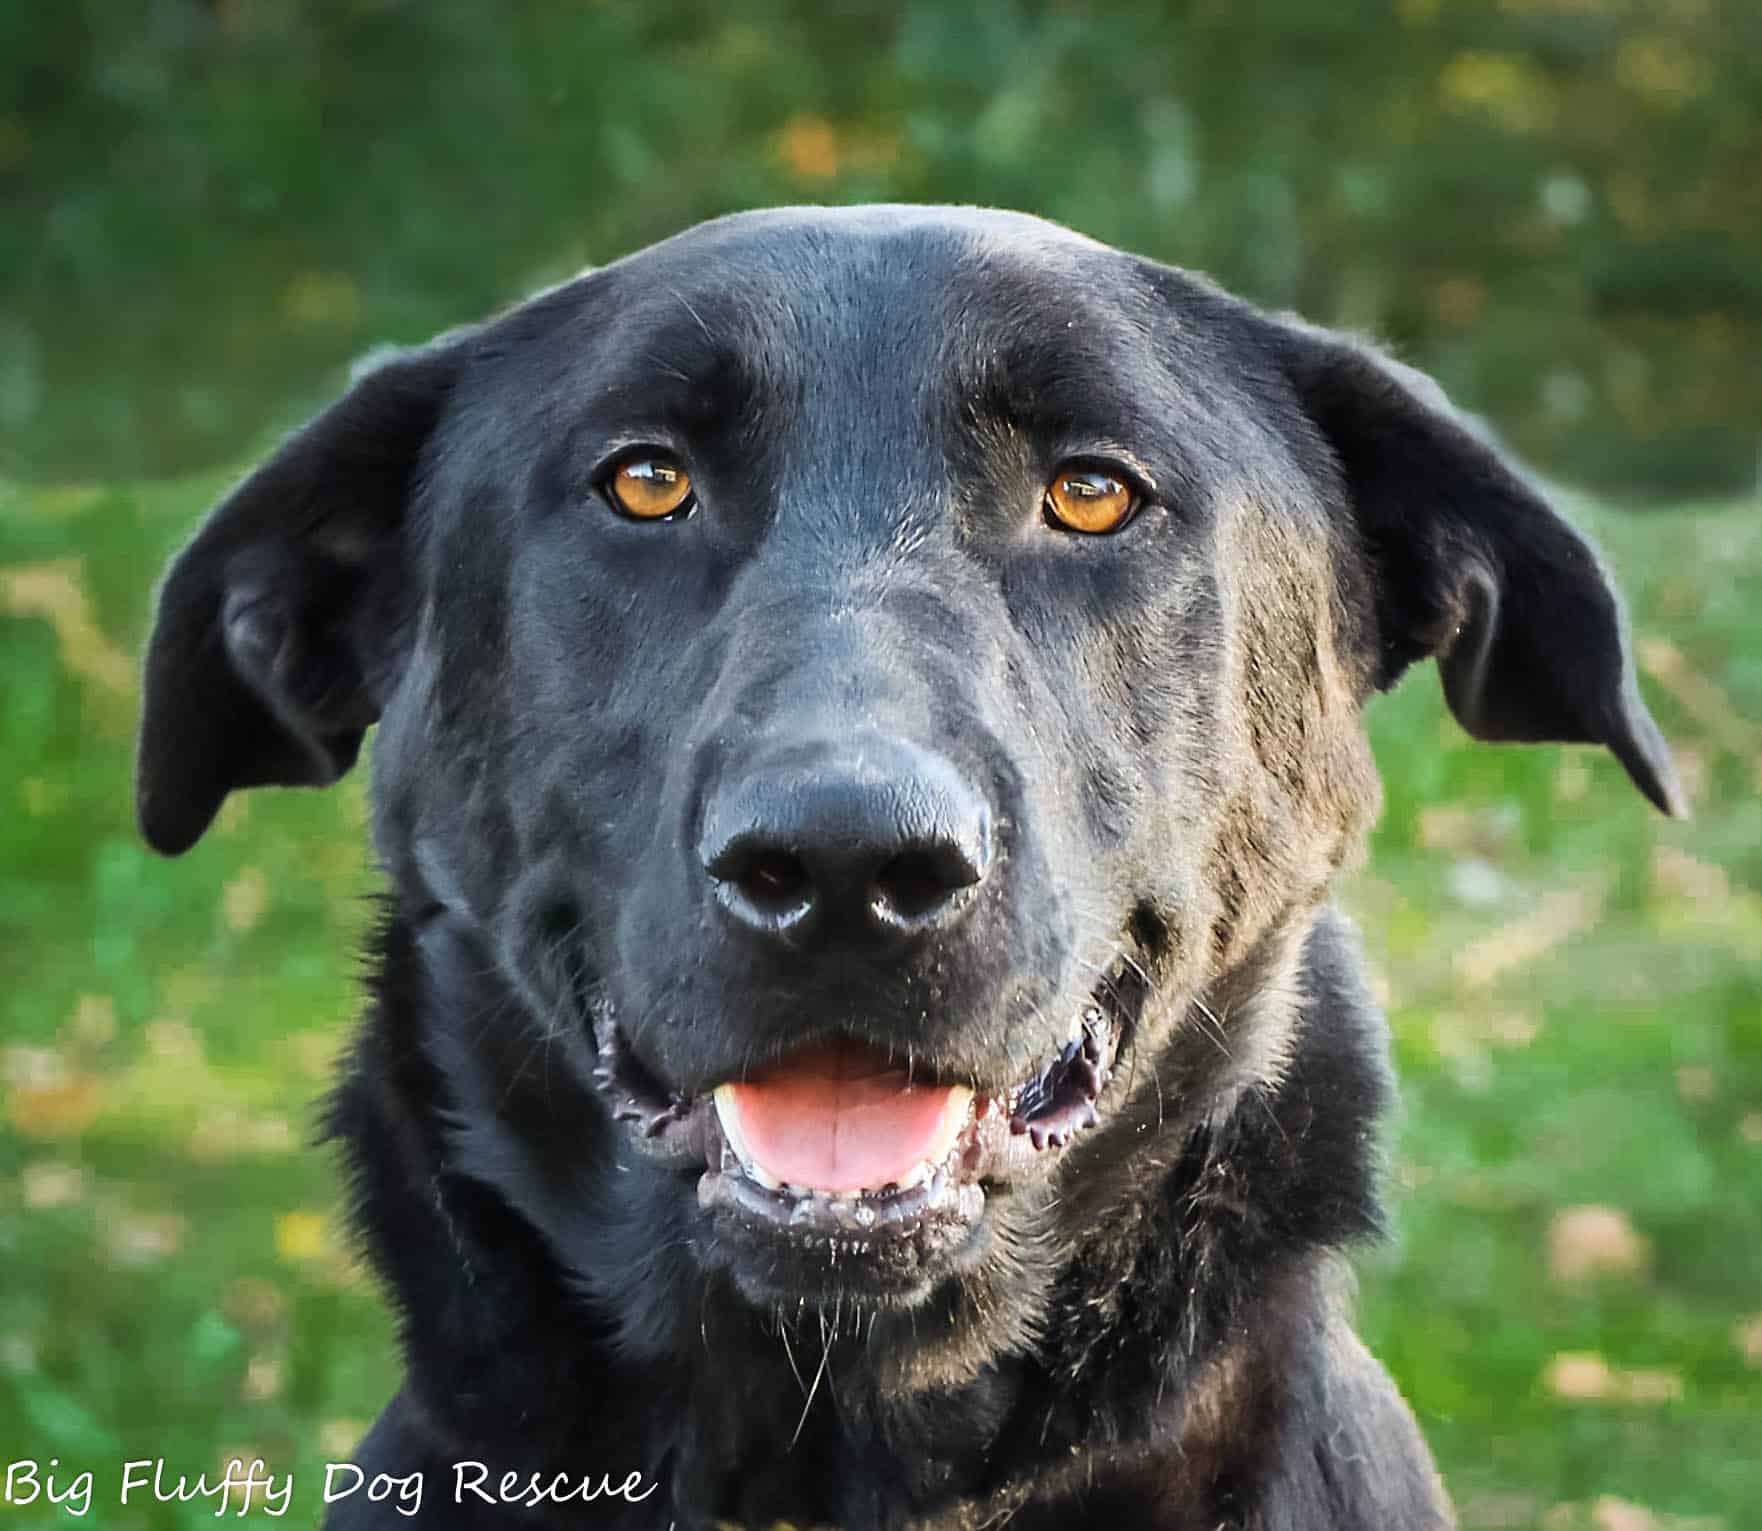
[[909, 936], [973, 902], [990, 867], [990, 809], [916, 745], [802, 745], [712, 791], [700, 854], [722, 907], [761, 934]]

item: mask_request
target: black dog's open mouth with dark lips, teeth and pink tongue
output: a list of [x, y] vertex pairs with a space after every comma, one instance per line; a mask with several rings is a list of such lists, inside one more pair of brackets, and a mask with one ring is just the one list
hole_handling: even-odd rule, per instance
[[650, 1159], [698, 1173], [698, 1203], [800, 1237], [946, 1242], [988, 1193], [1043, 1173], [1107, 1110], [1149, 983], [1119, 957], [1068, 1039], [999, 1092], [925, 1078], [872, 1043], [835, 1036], [687, 1098], [638, 1059], [615, 1018], [594, 1025], [596, 1078]]

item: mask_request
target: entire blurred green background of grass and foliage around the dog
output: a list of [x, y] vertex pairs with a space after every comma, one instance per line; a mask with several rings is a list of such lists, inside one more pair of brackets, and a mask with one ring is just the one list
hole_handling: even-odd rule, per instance
[[[1376, 331], [1598, 492], [1697, 816], [1470, 745], [1429, 673], [1373, 708], [1348, 904], [1404, 1112], [1366, 1332], [1470, 1527], [1762, 1524], [1758, 166], [1750, 0], [0, 0], [0, 1464], [263, 1455], [310, 1520], [395, 1378], [307, 1147], [359, 782], [136, 842], [164, 557], [372, 344], [904, 197]], [[83, 1524], [208, 1520], [100, 1485]]]

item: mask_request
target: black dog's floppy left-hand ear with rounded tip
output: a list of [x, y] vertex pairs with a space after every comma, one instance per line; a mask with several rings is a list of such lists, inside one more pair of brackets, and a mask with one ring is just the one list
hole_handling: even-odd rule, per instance
[[395, 354], [226, 497], [146, 648], [136, 816], [187, 851], [226, 795], [329, 786], [396, 678], [405, 507], [467, 338]]

